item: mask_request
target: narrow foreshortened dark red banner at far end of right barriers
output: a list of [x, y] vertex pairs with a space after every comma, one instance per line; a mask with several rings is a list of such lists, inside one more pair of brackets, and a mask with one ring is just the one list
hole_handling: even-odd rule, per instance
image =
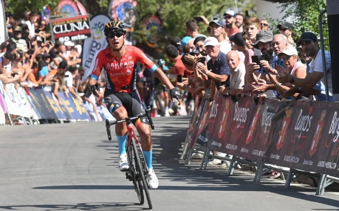
[[197, 126], [200, 122], [200, 113], [202, 111], [203, 105], [205, 102], [205, 100], [202, 100], [201, 98], [199, 98], [198, 96], [196, 96], [195, 98], [195, 104], [196, 105], [194, 107], [194, 114], [192, 115], [191, 118], [191, 122], [189, 124], [188, 130], [187, 130], [187, 135], [185, 138], [185, 142], [188, 143], [188, 146], [190, 148], [192, 148], [192, 139], [194, 139], [195, 135], [196, 135], [196, 131], [197, 131]]

